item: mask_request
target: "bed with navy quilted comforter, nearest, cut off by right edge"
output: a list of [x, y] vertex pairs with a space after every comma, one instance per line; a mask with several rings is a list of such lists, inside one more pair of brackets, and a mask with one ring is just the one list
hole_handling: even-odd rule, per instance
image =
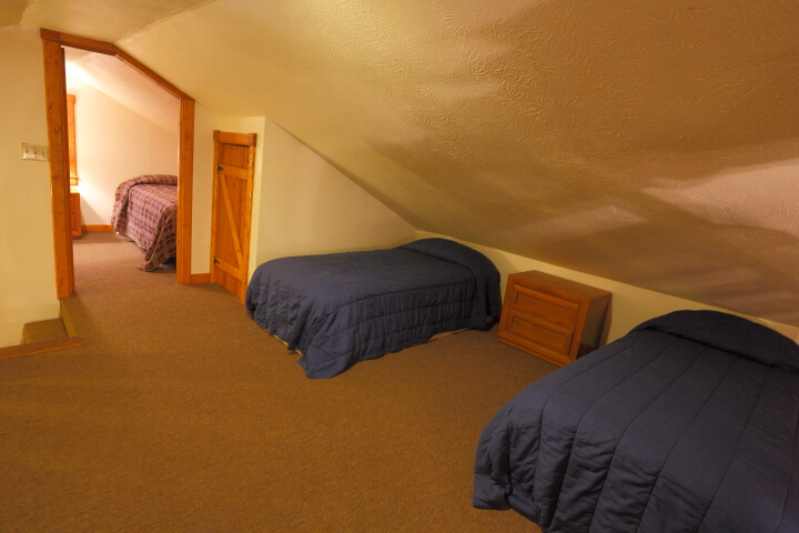
[[679, 311], [547, 375], [486, 425], [474, 505], [545, 533], [799, 532], [799, 345]]

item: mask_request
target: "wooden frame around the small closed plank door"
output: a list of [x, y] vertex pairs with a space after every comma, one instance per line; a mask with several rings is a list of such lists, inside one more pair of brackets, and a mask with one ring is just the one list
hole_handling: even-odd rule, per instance
[[257, 143], [256, 133], [231, 133], [226, 131], [214, 130], [214, 161], [213, 161], [213, 189], [211, 199], [211, 264], [209, 265], [211, 272], [211, 283], [216, 283], [216, 269], [214, 268], [214, 252], [216, 245], [216, 205], [221, 201], [218, 198], [216, 191], [216, 174], [219, 173], [219, 160], [220, 160], [220, 143], [222, 144], [237, 144], [240, 147], [247, 147], [247, 191], [246, 202], [247, 209], [242, 213], [242, 230], [241, 230], [241, 248], [242, 248], [242, 264], [239, 265], [240, 273], [242, 274], [241, 285], [239, 288], [239, 300], [244, 303], [246, 295], [246, 286], [250, 278], [250, 234], [252, 231], [252, 201], [253, 201], [253, 181], [255, 178], [255, 145]]

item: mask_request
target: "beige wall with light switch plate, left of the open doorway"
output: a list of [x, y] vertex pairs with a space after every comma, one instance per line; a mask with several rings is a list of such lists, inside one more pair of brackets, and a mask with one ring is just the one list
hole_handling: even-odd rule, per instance
[[20, 143], [47, 144], [39, 32], [0, 29], [0, 346], [18, 344], [22, 325], [59, 313], [48, 163], [22, 161]]

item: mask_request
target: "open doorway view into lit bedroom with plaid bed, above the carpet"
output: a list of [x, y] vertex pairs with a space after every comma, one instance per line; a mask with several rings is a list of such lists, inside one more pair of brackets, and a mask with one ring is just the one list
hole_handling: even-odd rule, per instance
[[117, 230], [144, 252], [140, 270], [158, 269], [176, 251], [180, 102], [115, 57], [65, 48], [64, 59], [72, 235]]

